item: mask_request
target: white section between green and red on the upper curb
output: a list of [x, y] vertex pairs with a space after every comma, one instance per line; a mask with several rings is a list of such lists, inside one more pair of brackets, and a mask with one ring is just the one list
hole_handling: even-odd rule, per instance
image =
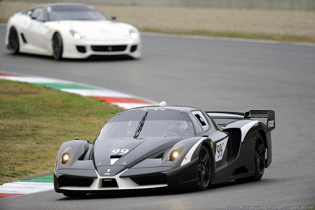
[[89, 90], [89, 89], [60, 89], [60, 91], [74, 93], [81, 96], [101, 96], [101, 97], [121, 97], [131, 98], [131, 95], [124, 94], [115, 90], [101, 89], [101, 90]]

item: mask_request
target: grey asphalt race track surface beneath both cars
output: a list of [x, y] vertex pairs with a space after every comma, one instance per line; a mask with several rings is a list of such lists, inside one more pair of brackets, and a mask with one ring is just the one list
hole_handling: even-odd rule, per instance
[[140, 60], [9, 55], [0, 26], [0, 71], [97, 85], [205, 111], [273, 109], [272, 164], [259, 182], [202, 192], [110, 192], [72, 199], [53, 190], [0, 199], [0, 209], [225, 209], [315, 204], [315, 47], [143, 35]]

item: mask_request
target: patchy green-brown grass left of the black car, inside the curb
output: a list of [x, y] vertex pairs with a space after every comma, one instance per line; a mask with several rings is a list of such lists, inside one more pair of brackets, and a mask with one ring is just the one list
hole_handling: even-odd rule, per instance
[[0, 79], [0, 184], [53, 172], [64, 141], [94, 140], [120, 111], [96, 98]]

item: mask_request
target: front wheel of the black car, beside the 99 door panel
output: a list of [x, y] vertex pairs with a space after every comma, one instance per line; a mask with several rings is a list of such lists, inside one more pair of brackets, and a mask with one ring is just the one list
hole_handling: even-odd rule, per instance
[[201, 145], [198, 160], [198, 187], [197, 190], [206, 190], [210, 183], [211, 162], [208, 149]]

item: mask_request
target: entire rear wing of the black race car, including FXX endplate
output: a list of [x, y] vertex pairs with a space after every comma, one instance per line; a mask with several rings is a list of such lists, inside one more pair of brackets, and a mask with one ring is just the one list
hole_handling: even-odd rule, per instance
[[[234, 120], [249, 120], [250, 118], [267, 118], [266, 133], [275, 129], [275, 112], [273, 110], [250, 110], [249, 112], [206, 112], [214, 120], [227, 119], [227, 122]], [[229, 120], [228, 120], [229, 119]]]

